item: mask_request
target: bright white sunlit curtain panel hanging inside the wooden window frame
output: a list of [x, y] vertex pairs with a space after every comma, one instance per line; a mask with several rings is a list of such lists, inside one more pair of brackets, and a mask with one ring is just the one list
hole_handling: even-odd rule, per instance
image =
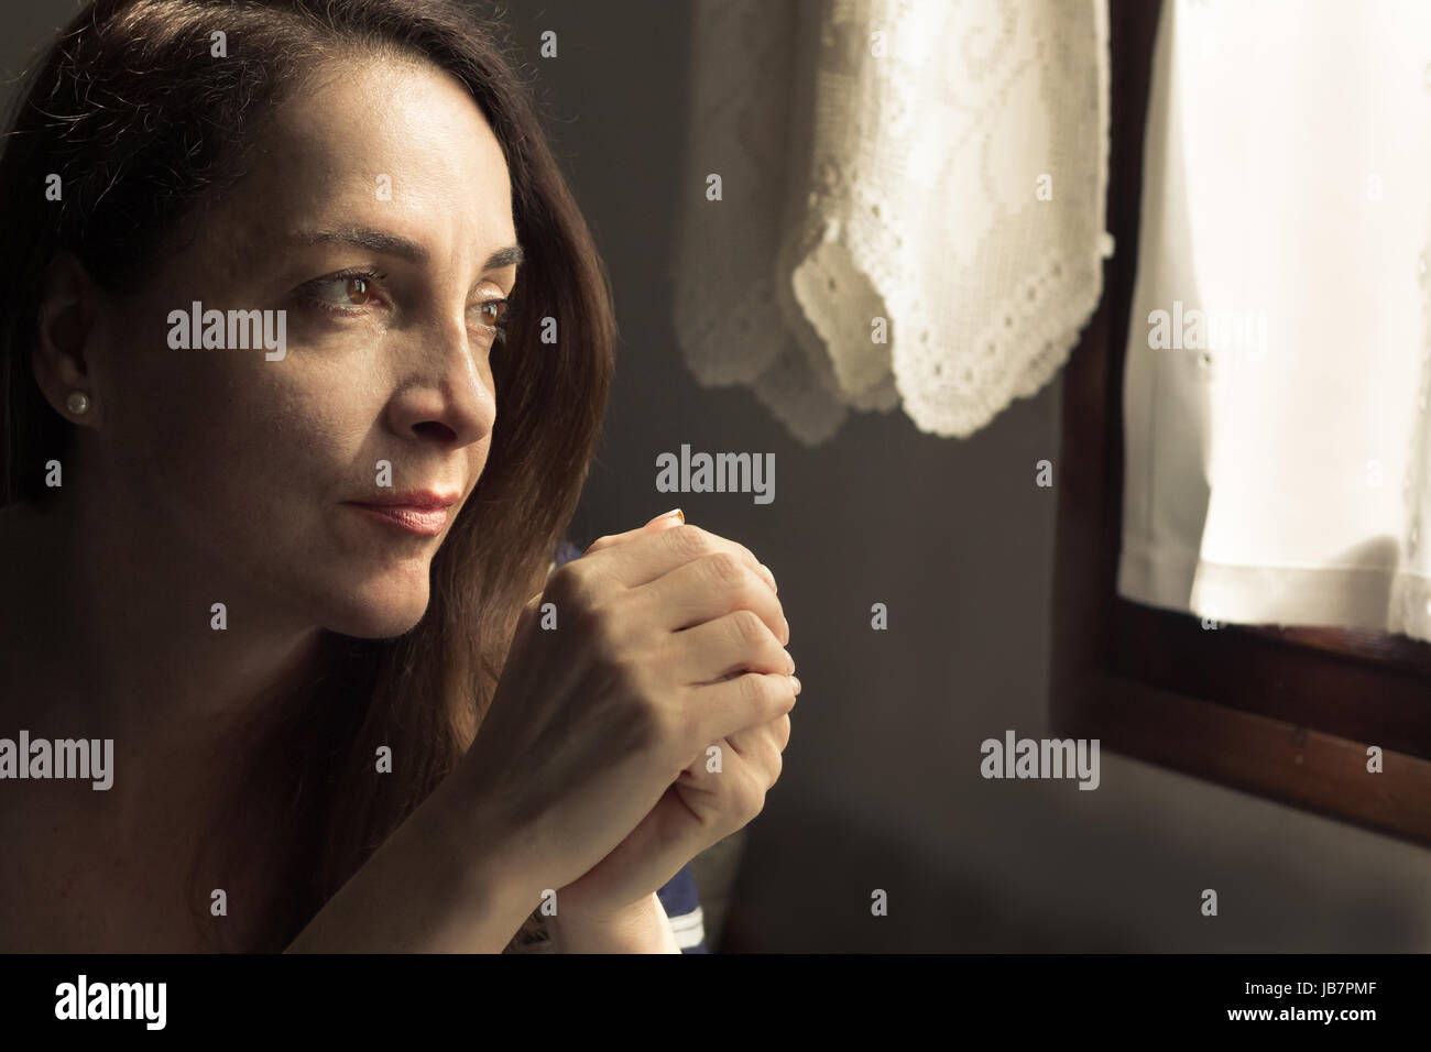
[[1168, 0], [1118, 590], [1431, 638], [1431, 3]]

